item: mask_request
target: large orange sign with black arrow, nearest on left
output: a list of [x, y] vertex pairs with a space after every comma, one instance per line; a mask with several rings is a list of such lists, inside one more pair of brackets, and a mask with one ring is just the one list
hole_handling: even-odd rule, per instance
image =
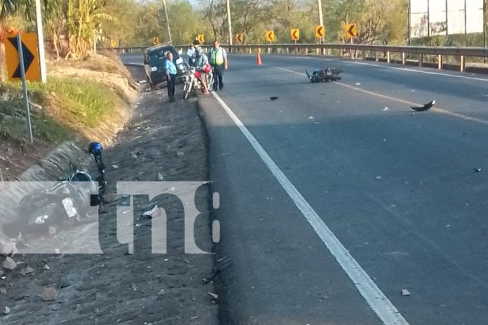
[[[25, 67], [25, 80], [40, 80], [39, 55], [37, 55], [37, 36], [33, 33], [20, 34], [22, 39], [22, 55]], [[7, 62], [8, 78], [20, 80], [20, 62], [17, 35], [7, 35], [5, 43], [5, 54]]]

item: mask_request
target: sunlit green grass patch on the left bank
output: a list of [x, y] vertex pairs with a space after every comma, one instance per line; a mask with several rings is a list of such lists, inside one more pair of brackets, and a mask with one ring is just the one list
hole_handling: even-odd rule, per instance
[[[28, 83], [29, 100], [43, 107], [32, 109], [34, 137], [59, 142], [74, 137], [82, 129], [97, 127], [110, 118], [120, 97], [109, 86], [83, 78], [48, 78], [46, 84]], [[20, 97], [20, 83], [0, 84], [0, 136], [25, 138], [25, 106]], [[10, 116], [14, 116], [11, 118]]]

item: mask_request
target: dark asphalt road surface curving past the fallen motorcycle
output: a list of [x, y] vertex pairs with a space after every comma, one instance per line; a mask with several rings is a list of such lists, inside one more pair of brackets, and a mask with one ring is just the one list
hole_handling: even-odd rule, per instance
[[[230, 55], [201, 99], [222, 324], [485, 324], [488, 78], [262, 59]], [[309, 83], [322, 67], [342, 81]]]

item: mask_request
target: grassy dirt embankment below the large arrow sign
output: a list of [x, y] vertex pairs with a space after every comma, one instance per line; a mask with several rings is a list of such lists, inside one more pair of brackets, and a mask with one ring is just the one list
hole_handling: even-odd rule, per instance
[[67, 141], [110, 144], [130, 118], [138, 86], [116, 57], [48, 62], [48, 82], [28, 83], [34, 144], [19, 83], [0, 83], [0, 181], [15, 180]]

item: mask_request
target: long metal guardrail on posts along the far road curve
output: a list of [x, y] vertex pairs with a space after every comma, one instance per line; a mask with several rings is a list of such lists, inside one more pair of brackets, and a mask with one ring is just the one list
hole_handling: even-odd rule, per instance
[[[184, 50], [187, 46], [175, 46], [179, 50]], [[203, 46], [209, 48], [210, 46]], [[386, 62], [391, 62], [392, 53], [400, 53], [402, 55], [402, 64], [406, 64], [407, 55], [419, 55], [419, 66], [423, 66], [423, 55], [438, 55], [438, 69], [443, 67], [443, 57], [450, 55], [459, 57], [460, 71], [466, 70], [466, 57], [488, 57], [488, 48], [466, 48], [466, 47], [449, 47], [449, 46], [394, 46], [394, 45], [365, 45], [365, 44], [346, 44], [346, 43], [325, 43], [325, 44], [241, 44], [241, 45], [222, 45], [222, 47], [229, 49], [230, 52], [248, 52], [253, 50], [263, 51], [267, 50], [271, 53], [276, 50], [277, 53], [294, 53], [297, 50], [306, 50], [312, 52], [316, 50], [318, 54], [325, 53], [325, 50], [345, 50], [352, 55], [353, 50], [362, 53], [365, 58], [366, 53], [374, 53], [375, 60], [379, 60], [379, 53], [386, 54]], [[119, 53], [137, 53], [143, 52], [147, 47], [127, 47], [127, 48], [113, 48]]]

